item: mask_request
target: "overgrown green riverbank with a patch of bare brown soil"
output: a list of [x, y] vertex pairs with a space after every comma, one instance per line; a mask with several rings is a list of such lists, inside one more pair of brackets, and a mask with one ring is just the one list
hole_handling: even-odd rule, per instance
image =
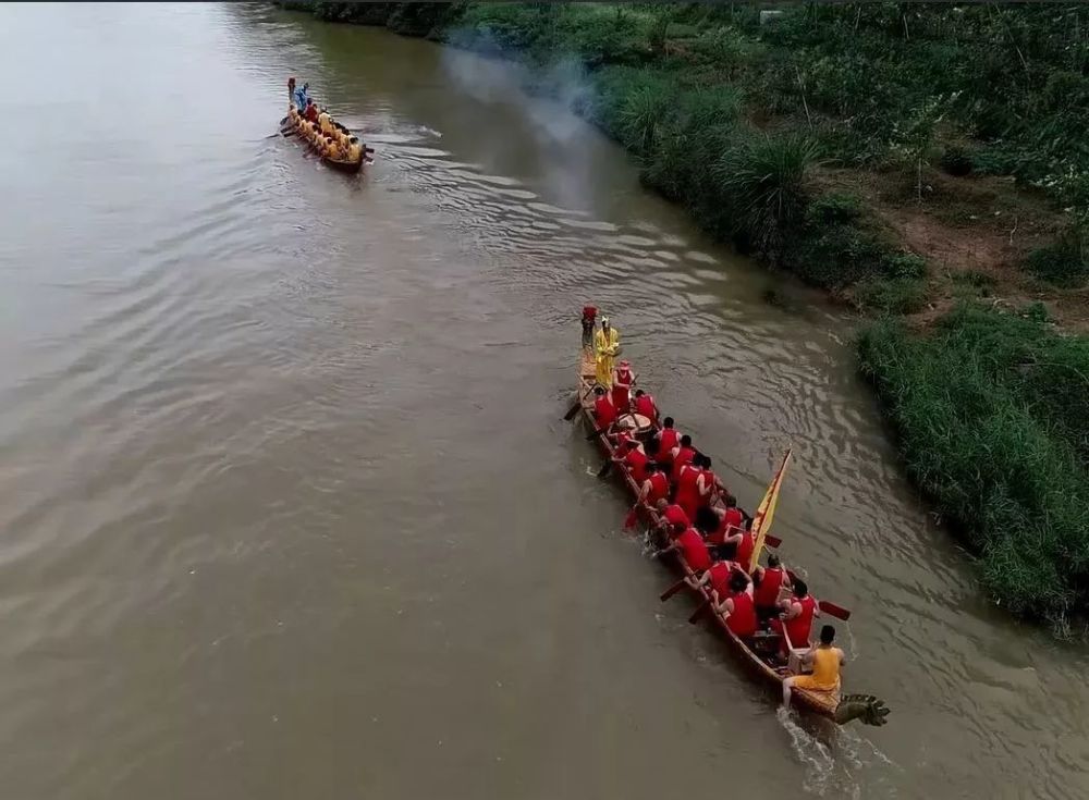
[[[538, 90], [568, 98], [714, 235], [901, 317], [859, 353], [910, 475], [1004, 605], [1060, 628], [1086, 608], [1087, 527], [1069, 515], [1089, 493], [1089, 355], [1042, 317], [1089, 328], [1089, 12], [778, 4], [761, 23], [699, 4], [289, 5], [535, 67]], [[1044, 378], [1055, 352], [1065, 367]]]

